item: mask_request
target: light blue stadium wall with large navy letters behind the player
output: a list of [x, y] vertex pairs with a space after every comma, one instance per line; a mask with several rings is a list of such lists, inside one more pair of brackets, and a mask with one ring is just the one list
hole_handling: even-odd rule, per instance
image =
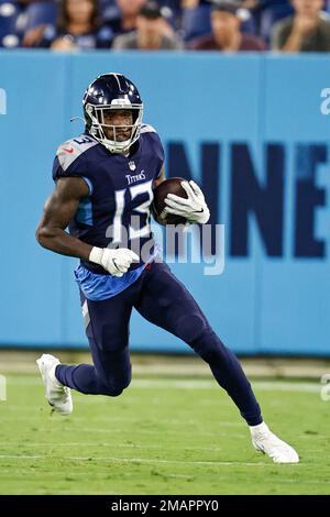
[[[69, 118], [113, 70], [139, 85], [167, 174], [199, 182], [226, 226], [222, 275], [172, 266], [217, 332], [243, 354], [330, 354], [328, 56], [4, 52], [0, 63], [2, 346], [86, 346], [75, 261], [34, 231], [56, 146], [82, 130]], [[187, 351], [138, 315], [131, 348]]]

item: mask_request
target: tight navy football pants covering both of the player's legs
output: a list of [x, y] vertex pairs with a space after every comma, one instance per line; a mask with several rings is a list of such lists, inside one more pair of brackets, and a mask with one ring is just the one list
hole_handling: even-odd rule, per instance
[[58, 365], [56, 377], [65, 386], [92, 395], [116, 397], [131, 382], [129, 323], [134, 307], [147, 321], [184, 340], [206, 361], [250, 426], [262, 422], [261, 409], [243, 370], [211, 329], [186, 287], [166, 264], [153, 263], [119, 295], [102, 301], [81, 294], [94, 366]]

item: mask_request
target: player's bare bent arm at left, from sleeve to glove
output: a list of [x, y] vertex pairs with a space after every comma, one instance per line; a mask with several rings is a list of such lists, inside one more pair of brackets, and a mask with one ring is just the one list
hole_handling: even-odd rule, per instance
[[57, 180], [36, 229], [36, 240], [43, 248], [88, 261], [92, 246], [65, 231], [77, 212], [79, 201], [88, 195], [89, 189], [82, 178], [67, 177]]

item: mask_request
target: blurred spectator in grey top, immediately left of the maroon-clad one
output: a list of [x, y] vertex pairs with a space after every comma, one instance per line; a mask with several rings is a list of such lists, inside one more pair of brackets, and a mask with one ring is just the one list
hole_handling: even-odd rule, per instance
[[174, 51], [183, 45], [176, 40], [162, 14], [157, 2], [147, 2], [141, 9], [136, 19], [136, 31], [117, 36], [112, 48], [117, 51]]

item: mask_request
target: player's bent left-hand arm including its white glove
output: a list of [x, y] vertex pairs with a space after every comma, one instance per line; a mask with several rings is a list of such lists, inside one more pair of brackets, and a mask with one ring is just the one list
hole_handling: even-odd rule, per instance
[[44, 215], [36, 229], [36, 240], [43, 248], [55, 253], [94, 262], [113, 276], [123, 276], [133, 261], [140, 261], [136, 253], [125, 248], [111, 250], [91, 246], [65, 231], [75, 217], [80, 200], [88, 195], [89, 188], [82, 178], [58, 179], [54, 193], [45, 204]]

